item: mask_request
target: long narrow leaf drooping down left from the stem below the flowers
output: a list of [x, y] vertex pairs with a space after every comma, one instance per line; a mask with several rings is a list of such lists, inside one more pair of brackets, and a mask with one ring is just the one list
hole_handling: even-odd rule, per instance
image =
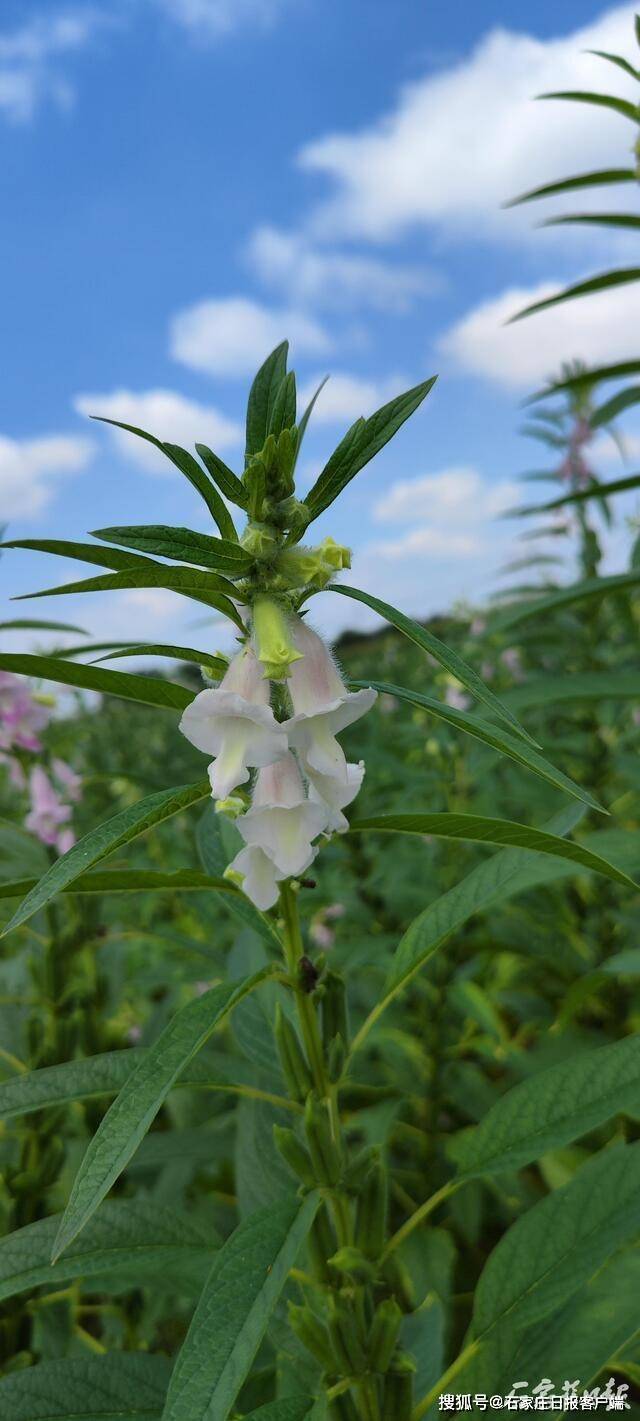
[[80, 1165], [54, 1243], [54, 1262], [73, 1243], [115, 1179], [135, 1154], [169, 1090], [216, 1026], [238, 1002], [253, 992], [273, 969], [210, 988], [188, 1002], [165, 1026], [127, 1079], [100, 1124]]

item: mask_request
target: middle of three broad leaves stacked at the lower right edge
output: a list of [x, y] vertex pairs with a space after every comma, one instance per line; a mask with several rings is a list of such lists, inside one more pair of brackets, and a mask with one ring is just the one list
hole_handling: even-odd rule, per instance
[[556, 1312], [639, 1232], [640, 1142], [603, 1150], [489, 1255], [475, 1292], [475, 1337], [505, 1320], [523, 1329]]

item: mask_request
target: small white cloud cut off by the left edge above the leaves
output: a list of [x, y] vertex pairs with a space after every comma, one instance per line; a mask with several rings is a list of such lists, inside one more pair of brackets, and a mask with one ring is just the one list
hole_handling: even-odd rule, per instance
[[94, 453], [88, 439], [0, 436], [0, 519], [36, 517], [55, 496], [57, 479], [81, 473]]

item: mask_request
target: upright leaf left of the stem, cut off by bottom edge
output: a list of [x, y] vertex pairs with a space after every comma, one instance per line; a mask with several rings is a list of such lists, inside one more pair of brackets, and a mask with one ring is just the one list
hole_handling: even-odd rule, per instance
[[169, 1383], [162, 1421], [220, 1421], [249, 1373], [320, 1196], [270, 1204], [213, 1260]]

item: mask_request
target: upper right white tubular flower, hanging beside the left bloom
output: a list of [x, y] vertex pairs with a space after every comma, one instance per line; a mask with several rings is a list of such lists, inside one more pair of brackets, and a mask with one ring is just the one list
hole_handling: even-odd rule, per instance
[[347, 786], [347, 760], [336, 736], [371, 709], [377, 691], [347, 691], [329, 647], [306, 622], [294, 622], [293, 639], [302, 661], [294, 662], [289, 679], [294, 712], [283, 722], [289, 745], [300, 752], [310, 774], [331, 776]]

